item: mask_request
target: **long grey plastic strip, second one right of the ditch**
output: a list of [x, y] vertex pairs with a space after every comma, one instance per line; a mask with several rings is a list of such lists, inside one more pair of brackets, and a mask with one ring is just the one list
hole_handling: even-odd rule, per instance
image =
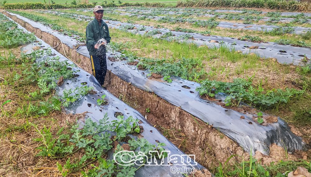
[[[44, 12], [43, 12], [44, 13]], [[10, 13], [13, 15], [13, 13]], [[55, 13], [57, 14], [64, 14], [61, 12]], [[16, 14], [14, 14], [16, 15]], [[25, 18], [20, 15], [16, 15], [17, 17]], [[83, 16], [83, 15], [76, 15], [74, 18], [81, 19], [94, 19], [93, 17]], [[104, 19], [103, 19], [104, 20]], [[104, 20], [108, 21], [108, 20]], [[130, 23], [123, 23], [118, 21], [108, 21], [107, 25], [110, 28], [122, 29], [122, 26], [126, 25], [133, 25]], [[153, 37], [161, 38], [167, 41], [177, 41], [177, 42], [186, 42], [186, 43], [194, 43], [197, 46], [206, 45], [211, 48], [219, 48], [220, 46], [224, 46], [229, 48], [230, 50], [240, 50], [244, 54], [255, 53], [260, 57], [266, 58], [276, 58], [279, 63], [282, 64], [292, 64], [292, 65], [305, 65], [302, 61], [307, 58], [311, 58], [311, 49], [304, 48], [304, 47], [294, 47], [290, 45], [279, 45], [274, 42], [249, 42], [249, 41], [241, 41], [236, 38], [232, 37], [221, 37], [221, 36], [204, 36], [199, 33], [187, 33], [187, 32], [179, 32], [179, 31], [171, 31], [166, 28], [154, 28], [152, 26], [143, 26], [143, 25], [133, 25], [136, 29], [126, 30], [128, 32], [134, 34], [145, 35], [146, 31], [157, 30], [160, 34], [156, 34]], [[143, 30], [140, 30], [142, 29]], [[170, 37], [163, 37], [162, 36], [166, 33], [172, 33], [173, 36]], [[193, 38], [191, 39], [183, 39], [183, 36], [190, 35]], [[254, 47], [251, 49], [250, 47]], [[311, 61], [309, 61], [310, 63]]]

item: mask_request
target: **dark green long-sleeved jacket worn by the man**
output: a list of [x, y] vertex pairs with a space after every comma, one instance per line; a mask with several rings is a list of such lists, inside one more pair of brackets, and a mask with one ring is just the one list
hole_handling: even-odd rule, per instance
[[108, 43], [110, 42], [110, 35], [108, 25], [101, 20], [100, 26], [96, 18], [92, 20], [86, 27], [86, 48], [90, 55], [96, 55], [94, 45], [98, 40], [104, 38]]

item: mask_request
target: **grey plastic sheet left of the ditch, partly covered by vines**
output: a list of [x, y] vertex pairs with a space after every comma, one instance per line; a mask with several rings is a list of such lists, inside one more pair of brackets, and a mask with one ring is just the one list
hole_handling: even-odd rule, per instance
[[[10, 19], [12, 20], [12, 19]], [[23, 29], [24, 31], [27, 31], [24, 27], [20, 26], [18, 24], [18, 28]], [[27, 31], [29, 32], [29, 31]], [[60, 37], [58, 35], [58, 37]], [[68, 41], [70, 38], [65, 39], [64, 41]], [[69, 40], [71, 41], [71, 40]], [[74, 40], [73, 40], [74, 41]], [[74, 41], [77, 42], [77, 41]], [[72, 44], [72, 43], [71, 43]], [[51, 55], [43, 55], [41, 58], [37, 59], [36, 62], [40, 62], [43, 60], [47, 60], [48, 58], [52, 57], [60, 57], [59, 61], [66, 61], [69, 64], [73, 64], [70, 60], [65, 58], [63, 55], [58, 53], [56, 50], [54, 50], [50, 45], [42, 41], [41, 39], [37, 38], [36, 42], [33, 42], [29, 45], [26, 45], [21, 48], [22, 51], [24, 51], [26, 54], [29, 54], [33, 51], [33, 47], [39, 46], [43, 50], [50, 49]], [[181, 158], [181, 155], [185, 155], [180, 149], [178, 149], [173, 143], [171, 143], [169, 140], [167, 140], [155, 127], [153, 127], [146, 119], [142, 116], [138, 111], [128, 106], [126, 103], [122, 102], [118, 98], [116, 98], [113, 94], [109, 93], [107, 90], [103, 89], [98, 81], [95, 79], [95, 77], [86, 71], [84, 71], [81, 68], [72, 68], [75, 74], [78, 76], [71, 79], [65, 79], [64, 83], [61, 86], [57, 86], [56, 88], [56, 94], [60, 97], [63, 96], [63, 91], [66, 89], [75, 89], [77, 87], [81, 87], [81, 85], [87, 85], [89, 87], [93, 87], [94, 91], [96, 91], [96, 94], [87, 94], [86, 96], [83, 96], [80, 100], [78, 100], [72, 107], [66, 107], [64, 108], [64, 111], [66, 113], [71, 114], [79, 114], [83, 112], [87, 112], [85, 115], [86, 117], [90, 117], [93, 122], [99, 122], [100, 119], [102, 119], [105, 115], [105, 113], [108, 114], [109, 122], [113, 120], [118, 120], [117, 117], [115, 117], [115, 112], [121, 112], [123, 113], [125, 118], [128, 118], [129, 116], [133, 116], [139, 120], [142, 121], [140, 126], [143, 127], [142, 136], [147, 141], [149, 141], [151, 144], [157, 144], [157, 142], [165, 143], [166, 146], [164, 146], [165, 151], [170, 152], [170, 158], [176, 158], [175, 162], [177, 164], [174, 165], [160, 165], [160, 166], [143, 166], [140, 169], [136, 171], [135, 176], [137, 177], [146, 177], [146, 176], [184, 176], [183, 174], [173, 174], [170, 170], [172, 166], [176, 167], [177, 169], [197, 169], [202, 170], [205, 169], [202, 165], [195, 162], [193, 159], [187, 158], [186, 156], [183, 156], [183, 159]], [[56, 80], [57, 82], [57, 80]], [[97, 99], [101, 98], [102, 95], [106, 95], [105, 101], [108, 102], [108, 104], [104, 106], [99, 106], [97, 104]], [[79, 122], [81, 125], [83, 122]], [[130, 135], [131, 138], [138, 139], [138, 136]], [[157, 141], [157, 142], [156, 142]], [[109, 157], [110, 159], [113, 159], [112, 156]], [[188, 160], [188, 161], [187, 161]], [[166, 160], [164, 160], [165, 162]], [[160, 164], [160, 161], [158, 160], [158, 163]], [[179, 165], [183, 164], [183, 165]]]

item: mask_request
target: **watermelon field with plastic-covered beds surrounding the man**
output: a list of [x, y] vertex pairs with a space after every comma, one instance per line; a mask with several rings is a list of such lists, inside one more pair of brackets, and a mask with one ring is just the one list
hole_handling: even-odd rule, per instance
[[[196, 155], [194, 168], [208, 170], [180, 176], [290, 176], [298, 166], [311, 171], [310, 13], [106, 7], [103, 20], [112, 37], [107, 90], [86, 73], [91, 67], [85, 29], [94, 19], [92, 9], [2, 13], [34, 33], [10, 36], [6, 31], [16, 24], [1, 16], [1, 140], [8, 145], [0, 151], [15, 153], [1, 156], [6, 173], [150, 174], [144, 174], [145, 165], [127, 168], [111, 160], [127, 149], [180, 149]], [[32, 44], [25, 50], [33, 54], [20, 55], [20, 46], [36, 41], [34, 35], [77, 69], [67, 71], [74, 65], [55, 57], [49, 61], [53, 52], [35, 54], [45, 51], [38, 50], [42, 45], [35, 50]], [[33, 64], [40, 55], [44, 62]], [[86, 126], [75, 129], [81, 122]], [[103, 131], [110, 134], [99, 140]], [[21, 162], [25, 155], [30, 159]], [[167, 170], [153, 169], [172, 175]]]

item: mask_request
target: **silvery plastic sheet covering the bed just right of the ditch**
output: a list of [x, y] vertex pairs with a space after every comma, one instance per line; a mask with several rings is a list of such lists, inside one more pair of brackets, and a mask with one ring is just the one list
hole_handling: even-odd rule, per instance
[[[36, 24], [35, 26], [39, 27], [39, 29], [52, 31], [50, 28], [25, 17], [17, 17], [28, 22], [31, 26]], [[52, 34], [51, 32], [49, 33]], [[60, 41], [72, 39], [69, 36], [63, 35], [58, 35], [58, 37], [60, 37], [58, 38]], [[74, 39], [73, 42], [78, 43]], [[86, 46], [79, 46], [77, 52], [90, 57]], [[117, 55], [120, 55], [120, 53], [112, 53], [111, 51], [107, 53], [107, 57], [116, 57]], [[252, 152], [253, 154], [256, 151], [261, 151], [263, 154], [268, 155], [270, 145], [273, 143], [281, 147], [286, 147], [286, 150], [289, 152], [302, 150], [305, 145], [301, 137], [291, 132], [287, 123], [279, 117], [277, 122], [262, 126], [256, 120], [253, 120], [254, 115], [250, 113], [241, 113], [232, 109], [226, 109], [216, 103], [202, 99], [195, 90], [200, 86], [196, 82], [175, 77], [172, 77], [172, 83], [151, 80], [146, 77], [148, 74], [147, 71], [137, 70], [136, 66], [127, 65], [126, 61], [111, 62], [107, 60], [107, 68], [113, 74], [131, 83], [133, 86], [148, 92], [154, 92], [167, 102], [182, 108], [202, 121], [207, 122], [209, 125], [212, 125], [237, 142], [245, 151]], [[71, 83], [68, 84], [71, 85]], [[224, 96], [222, 94], [216, 94], [216, 99], [223, 100], [225, 98]], [[86, 110], [84, 109], [82, 111]], [[241, 116], [244, 119], [241, 119]]]

